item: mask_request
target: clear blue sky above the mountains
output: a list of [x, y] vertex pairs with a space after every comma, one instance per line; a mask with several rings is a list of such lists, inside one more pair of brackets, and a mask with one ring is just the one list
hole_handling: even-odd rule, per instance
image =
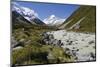
[[54, 3], [38, 3], [38, 2], [23, 2], [23, 1], [14, 1], [20, 6], [28, 7], [38, 13], [41, 20], [55, 15], [62, 19], [67, 19], [76, 9], [79, 8], [79, 5], [73, 4], [54, 4]]

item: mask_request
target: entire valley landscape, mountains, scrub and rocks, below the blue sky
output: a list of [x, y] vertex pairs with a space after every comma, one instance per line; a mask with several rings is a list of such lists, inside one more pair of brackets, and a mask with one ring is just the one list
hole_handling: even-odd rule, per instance
[[67, 19], [41, 20], [30, 8], [13, 4], [12, 65], [96, 60], [96, 7], [80, 6]]

